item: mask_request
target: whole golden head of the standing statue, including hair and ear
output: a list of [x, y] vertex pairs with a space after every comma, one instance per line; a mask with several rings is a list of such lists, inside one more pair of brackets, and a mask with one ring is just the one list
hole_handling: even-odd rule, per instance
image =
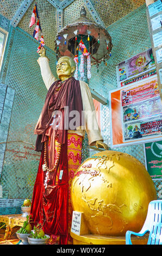
[[69, 77], [72, 77], [75, 69], [76, 63], [73, 58], [68, 56], [59, 58], [57, 63], [57, 75], [61, 81], [65, 81]]

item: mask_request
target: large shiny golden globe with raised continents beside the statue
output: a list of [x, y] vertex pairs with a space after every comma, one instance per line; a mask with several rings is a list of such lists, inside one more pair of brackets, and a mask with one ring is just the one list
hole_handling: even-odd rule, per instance
[[90, 234], [123, 236], [139, 232], [148, 204], [157, 193], [145, 166], [126, 153], [103, 151], [85, 160], [74, 174], [71, 200], [83, 212]]

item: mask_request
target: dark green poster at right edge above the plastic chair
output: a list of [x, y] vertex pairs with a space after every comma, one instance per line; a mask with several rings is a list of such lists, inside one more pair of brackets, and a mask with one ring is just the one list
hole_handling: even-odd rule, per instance
[[145, 166], [152, 179], [162, 179], [162, 141], [144, 144]]

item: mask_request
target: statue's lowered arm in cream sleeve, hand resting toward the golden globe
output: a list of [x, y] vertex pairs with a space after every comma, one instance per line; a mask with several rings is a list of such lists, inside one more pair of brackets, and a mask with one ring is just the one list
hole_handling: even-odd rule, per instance
[[89, 139], [89, 145], [96, 145], [96, 148], [109, 149], [108, 145], [103, 142], [101, 131], [99, 129], [96, 110], [94, 106], [94, 101], [92, 100], [91, 92], [83, 81], [80, 82], [80, 89], [82, 94], [83, 110], [84, 110], [84, 120], [85, 129]]

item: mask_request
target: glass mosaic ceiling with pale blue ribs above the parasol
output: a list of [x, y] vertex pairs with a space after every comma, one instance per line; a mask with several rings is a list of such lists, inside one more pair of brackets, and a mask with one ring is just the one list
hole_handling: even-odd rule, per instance
[[[38, 0], [36, 3], [45, 44], [54, 50], [57, 31], [77, 20], [83, 5], [89, 19], [107, 28], [145, 4], [145, 0]], [[33, 27], [29, 28], [29, 21], [34, 5], [33, 0], [3, 0], [0, 2], [0, 14], [14, 27], [18, 26], [32, 35]]]

